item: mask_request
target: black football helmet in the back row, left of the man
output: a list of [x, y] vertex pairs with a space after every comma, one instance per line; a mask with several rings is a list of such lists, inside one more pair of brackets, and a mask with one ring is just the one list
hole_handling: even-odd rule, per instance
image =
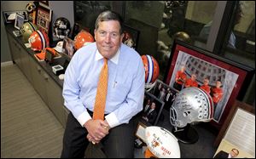
[[61, 17], [55, 20], [53, 28], [54, 28], [54, 36], [60, 39], [67, 37], [71, 30], [70, 22], [64, 17]]

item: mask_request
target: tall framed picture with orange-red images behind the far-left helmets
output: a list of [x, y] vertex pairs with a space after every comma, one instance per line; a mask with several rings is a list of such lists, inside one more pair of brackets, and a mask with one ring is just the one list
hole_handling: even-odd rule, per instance
[[48, 6], [38, 5], [36, 24], [40, 30], [45, 31], [49, 35], [51, 27], [52, 10]]

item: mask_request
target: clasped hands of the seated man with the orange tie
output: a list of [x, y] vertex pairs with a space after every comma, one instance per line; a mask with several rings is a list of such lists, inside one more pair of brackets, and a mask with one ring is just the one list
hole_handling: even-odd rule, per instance
[[109, 126], [108, 122], [90, 119], [84, 123], [84, 128], [88, 131], [87, 139], [99, 143], [108, 134]]

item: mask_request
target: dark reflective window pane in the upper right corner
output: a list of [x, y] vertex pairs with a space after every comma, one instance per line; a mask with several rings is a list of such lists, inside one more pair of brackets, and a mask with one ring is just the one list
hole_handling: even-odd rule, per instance
[[[236, 2], [232, 17], [233, 21], [229, 24], [232, 25], [231, 32], [226, 35], [230, 39], [224, 46], [224, 56], [255, 68], [255, 2]], [[234, 43], [234, 47], [230, 42]]]

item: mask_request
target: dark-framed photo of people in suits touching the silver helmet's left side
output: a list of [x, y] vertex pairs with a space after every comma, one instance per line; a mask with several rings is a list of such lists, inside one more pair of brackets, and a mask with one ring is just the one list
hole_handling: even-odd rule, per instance
[[173, 103], [178, 91], [176, 89], [170, 87], [165, 82], [162, 82], [159, 79], [157, 79], [155, 82], [154, 88], [152, 88], [149, 91], [149, 93], [153, 94], [156, 98], [165, 102], [164, 108], [167, 111], [170, 111], [170, 108], [172, 106], [172, 103]]

